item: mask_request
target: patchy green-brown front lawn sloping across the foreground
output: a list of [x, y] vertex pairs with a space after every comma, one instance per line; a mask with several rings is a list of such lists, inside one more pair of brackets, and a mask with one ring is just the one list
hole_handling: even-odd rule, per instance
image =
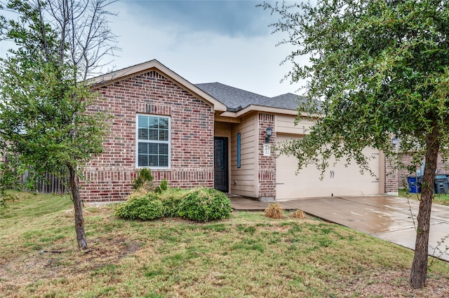
[[0, 209], [0, 296], [375, 297], [382, 287], [424, 297], [432, 285], [449, 288], [448, 263], [436, 260], [429, 286], [411, 290], [412, 251], [314, 218], [142, 222], [89, 206], [89, 249], [79, 251], [68, 197], [19, 195]]

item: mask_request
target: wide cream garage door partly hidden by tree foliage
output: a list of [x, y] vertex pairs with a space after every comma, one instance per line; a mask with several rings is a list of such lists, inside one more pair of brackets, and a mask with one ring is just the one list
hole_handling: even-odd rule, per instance
[[[289, 136], [278, 134], [278, 141], [291, 139]], [[379, 151], [367, 149], [367, 156], [373, 155], [370, 169], [379, 176]], [[281, 155], [276, 159], [276, 199], [295, 199], [307, 197], [331, 197], [354, 196], [379, 193], [379, 181], [370, 173], [360, 173], [357, 164], [351, 163], [344, 166], [344, 162], [338, 162], [333, 166], [329, 162], [329, 168], [320, 180], [320, 171], [314, 165], [309, 165], [295, 175], [297, 159]]]

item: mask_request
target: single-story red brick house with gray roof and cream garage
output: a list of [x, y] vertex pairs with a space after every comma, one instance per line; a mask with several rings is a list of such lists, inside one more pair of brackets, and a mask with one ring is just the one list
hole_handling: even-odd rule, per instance
[[[319, 180], [316, 169], [295, 175], [294, 157], [276, 157], [274, 144], [304, 135], [294, 125], [295, 94], [264, 97], [220, 83], [194, 85], [152, 60], [93, 79], [98, 106], [111, 113], [104, 153], [83, 169], [86, 201], [124, 199], [136, 173], [149, 167], [172, 187], [215, 187], [258, 199], [380, 194], [389, 189], [382, 152], [372, 169], [336, 164]], [[267, 131], [272, 134], [267, 138]], [[387, 187], [387, 188], [386, 188]]]

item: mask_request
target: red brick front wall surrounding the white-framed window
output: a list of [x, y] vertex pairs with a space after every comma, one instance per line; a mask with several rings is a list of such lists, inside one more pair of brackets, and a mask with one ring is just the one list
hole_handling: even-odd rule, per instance
[[[98, 89], [98, 106], [113, 115], [104, 152], [85, 169], [81, 197], [116, 201], [132, 191], [136, 169], [136, 115], [170, 116], [170, 169], [152, 169], [154, 183], [213, 187], [213, 107], [156, 71]], [[86, 180], [88, 183], [86, 183]]]

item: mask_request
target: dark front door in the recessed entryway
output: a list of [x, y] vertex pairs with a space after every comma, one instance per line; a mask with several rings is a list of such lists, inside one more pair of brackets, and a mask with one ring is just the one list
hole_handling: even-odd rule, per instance
[[229, 183], [227, 173], [227, 138], [214, 138], [214, 181], [213, 186], [215, 190], [227, 192], [227, 185]]

